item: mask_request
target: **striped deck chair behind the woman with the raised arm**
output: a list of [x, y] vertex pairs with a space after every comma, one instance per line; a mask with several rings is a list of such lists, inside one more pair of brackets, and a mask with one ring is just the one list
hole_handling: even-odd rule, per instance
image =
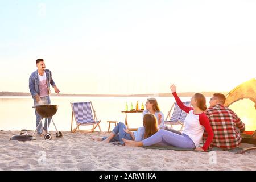
[[[183, 104], [185, 106], [190, 107], [191, 102], [187, 101], [187, 102], [183, 102]], [[174, 108], [174, 111], [172, 112], [172, 115], [171, 115], [172, 108]], [[185, 121], [186, 117], [187, 117], [187, 113], [185, 111], [181, 110], [180, 107], [177, 105], [177, 103], [174, 102], [164, 123], [166, 125], [171, 125], [171, 127], [172, 127], [172, 125], [181, 125], [181, 129], [180, 129], [180, 131], [181, 131], [184, 127], [184, 121]]]

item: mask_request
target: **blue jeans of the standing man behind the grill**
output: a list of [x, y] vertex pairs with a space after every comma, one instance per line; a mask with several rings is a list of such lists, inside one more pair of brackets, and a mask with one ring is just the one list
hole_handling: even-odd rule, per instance
[[[51, 104], [51, 100], [49, 98], [49, 96], [46, 96], [46, 97], [40, 97], [41, 98], [41, 101], [38, 103], [36, 101], [34, 101], [34, 105], [46, 105], [46, 104]], [[36, 127], [38, 127], [39, 125], [39, 122], [41, 121], [42, 117], [36, 112], [36, 109], [35, 109], [35, 115], [36, 115]], [[43, 121], [42, 121], [43, 123]], [[51, 118], [48, 118], [48, 127], [49, 127], [49, 124], [51, 123]], [[44, 130], [47, 130], [47, 121], [46, 119], [44, 120]], [[38, 134], [42, 134], [43, 131], [42, 131], [42, 125], [40, 125], [38, 127]]]

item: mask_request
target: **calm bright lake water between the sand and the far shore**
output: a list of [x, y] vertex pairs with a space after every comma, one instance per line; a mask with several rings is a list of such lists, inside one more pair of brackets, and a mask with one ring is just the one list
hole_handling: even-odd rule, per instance
[[[173, 97], [156, 97], [164, 117], [171, 109], [174, 102]], [[129, 108], [131, 102], [133, 106], [138, 101], [139, 108], [146, 103], [147, 97], [51, 97], [52, 104], [59, 105], [59, 109], [53, 115], [53, 121], [58, 130], [70, 131], [71, 129], [71, 105], [70, 102], [87, 102], [92, 101], [97, 118], [101, 120], [101, 129], [108, 130], [107, 121], [125, 122], [125, 110], [127, 102]], [[190, 97], [181, 97], [182, 101], [190, 101]], [[207, 104], [209, 98], [207, 98]], [[34, 101], [31, 97], [0, 97], [0, 130], [35, 130], [35, 110], [32, 109]], [[207, 105], [209, 106], [209, 104]], [[254, 103], [250, 100], [238, 101], [231, 105], [230, 108], [236, 111], [237, 115], [246, 124], [246, 130], [256, 129], [256, 110]], [[142, 113], [128, 113], [127, 121], [129, 127], [142, 126]], [[75, 124], [73, 125], [75, 126]], [[89, 129], [88, 126], [81, 126], [81, 129]], [[113, 126], [112, 126], [113, 129]], [[179, 127], [177, 126], [177, 129]], [[50, 126], [50, 130], [55, 130]], [[98, 129], [96, 130], [98, 131]]]

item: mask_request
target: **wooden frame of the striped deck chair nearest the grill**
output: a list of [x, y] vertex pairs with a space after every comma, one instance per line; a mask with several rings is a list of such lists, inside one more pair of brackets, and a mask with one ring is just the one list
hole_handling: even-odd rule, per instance
[[[86, 124], [81, 124], [81, 123], [78, 123], [78, 122], [76, 121], [76, 117], [75, 117], [75, 114], [74, 114], [74, 112], [73, 112], [73, 105], [72, 105], [73, 103], [75, 103], [75, 102], [71, 102], [71, 108], [72, 108], [71, 133], [75, 133], [76, 131], [78, 131], [78, 132], [93, 132], [93, 131], [96, 129], [97, 126], [98, 126], [98, 128], [100, 129], [100, 132], [102, 132], [102, 131], [101, 131], [101, 127], [100, 127], [100, 122], [101, 122], [101, 120], [98, 121], [98, 119], [97, 119], [96, 111], [95, 111], [94, 108], [93, 108], [92, 101], [90, 101], [90, 106], [92, 107], [93, 119], [94, 119], [95, 123], [86, 123]], [[75, 121], [76, 121], [76, 127], [75, 127], [74, 129], [72, 129], [72, 127], [73, 127], [73, 118], [75, 118]], [[95, 120], [95, 119], [96, 119], [96, 120]], [[98, 122], [97, 122], [97, 121], [98, 121]], [[80, 130], [80, 129], [79, 129], [79, 126], [89, 126], [89, 125], [93, 125], [93, 127], [92, 127], [91, 130]]]

